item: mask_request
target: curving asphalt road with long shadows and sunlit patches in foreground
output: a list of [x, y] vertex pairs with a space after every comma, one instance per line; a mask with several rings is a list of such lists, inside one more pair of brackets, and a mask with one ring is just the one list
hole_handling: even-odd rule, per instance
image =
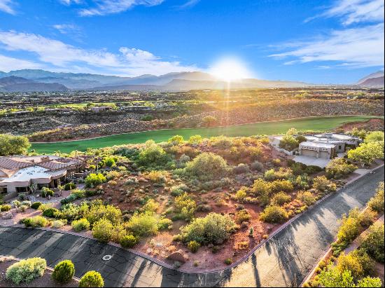
[[[295, 287], [335, 238], [337, 219], [353, 207], [363, 207], [379, 181], [384, 181], [383, 167], [305, 212], [247, 261], [218, 273], [179, 273], [91, 239], [26, 228], [0, 228], [0, 254], [41, 256], [49, 266], [71, 259], [76, 276], [98, 270], [106, 287]], [[113, 258], [103, 261], [105, 254]]]

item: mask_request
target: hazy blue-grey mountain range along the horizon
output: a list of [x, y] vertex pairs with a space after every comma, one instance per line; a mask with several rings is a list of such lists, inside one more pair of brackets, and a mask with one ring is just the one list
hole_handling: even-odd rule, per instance
[[[356, 84], [384, 87], [384, 71], [377, 71]], [[296, 81], [269, 81], [239, 79], [232, 81], [231, 88], [294, 88], [315, 84]], [[64, 91], [64, 90], [200, 90], [225, 89], [228, 83], [200, 71], [169, 73], [161, 76], [137, 77], [106, 76], [85, 73], [51, 72], [39, 69], [22, 69], [8, 73], [0, 71], [0, 92]]]

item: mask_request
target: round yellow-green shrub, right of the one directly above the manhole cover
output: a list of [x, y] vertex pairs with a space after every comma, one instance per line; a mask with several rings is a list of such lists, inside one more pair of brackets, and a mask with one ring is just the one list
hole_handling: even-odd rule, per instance
[[158, 217], [152, 212], [136, 213], [126, 224], [127, 230], [135, 236], [156, 235], [158, 233]]

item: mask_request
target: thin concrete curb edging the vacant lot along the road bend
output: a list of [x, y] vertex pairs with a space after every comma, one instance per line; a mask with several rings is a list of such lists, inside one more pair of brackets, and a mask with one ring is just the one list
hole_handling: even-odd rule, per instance
[[[374, 169], [370, 170], [370, 172], [374, 172], [375, 170], [379, 170], [381, 167], [384, 167], [384, 164], [381, 164], [379, 165], [378, 167], [375, 167]], [[370, 173], [369, 172], [369, 173]], [[368, 174], [368, 173], [367, 173]], [[169, 268], [170, 270], [175, 270], [175, 271], [178, 271], [178, 272], [181, 272], [181, 273], [186, 273], [186, 274], [209, 274], [209, 273], [217, 273], [217, 272], [221, 272], [221, 271], [225, 271], [225, 270], [229, 270], [229, 269], [232, 269], [232, 268], [235, 268], [237, 266], [239, 266], [239, 264], [243, 263], [244, 261], [247, 261], [248, 258], [255, 252], [257, 251], [258, 249], [260, 249], [260, 247], [262, 247], [263, 245], [265, 245], [266, 242], [268, 242], [269, 240], [271, 240], [272, 238], [274, 238], [274, 236], [278, 233], [280, 233], [281, 231], [283, 231], [284, 228], [288, 227], [290, 224], [292, 224], [296, 219], [298, 219], [299, 217], [301, 217], [304, 213], [307, 213], [311, 210], [313, 210], [316, 206], [318, 206], [319, 204], [323, 203], [323, 201], [325, 201], [326, 199], [328, 199], [330, 196], [332, 195], [335, 195], [335, 193], [339, 193], [340, 191], [342, 191], [344, 188], [346, 188], [346, 186], [349, 186], [350, 184], [352, 184], [353, 182], [357, 181], [358, 179], [361, 179], [363, 177], [365, 177], [367, 174], [363, 174], [363, 175], [360, 175], [359, 177], [355, 178], [355, 179], [352, 179], [351, 181], [347, 182], [345, 184], [345, 186], [337, 189], [337, 191], [333, 192], [333, 193], [329, 193], [328, 195], [326, 195], [325, 197], [321, 198], [320, 200], [318, 200], [316, 203], [314, 203], [314, 205], [311, 205], [309, 207], [309, 209], [305, 210], [304, 212], [300, 213], [300, 214], [297, 214], [295, 215], [295, 217], [291, 218], [290, 220], [288, 220], [286, 223], [282, 224], [278, 229], [276, 229], [276, 231], [274, 231], [272, 234], [269, 235], [269, 237], [265, 240], [262, 240], [258, 245], [256, 245], [253, 249], [250, 250], [250, 252], [248, 252], [248, 254], [246, 254], [245, 256], [243, 256], [241, 259], [239, 259], [238, 261], [236, 261], [235, 263], [232, 263], [231, 265], [227, 266], [226, 268], [223, 268], [223, 269], [213, 269], [213, 270], [204, 270], [202, 272], [200, 271], [189, 271], [189, 270], [183, 270], [183, 269], [175, 269], [173, 266], [163, 262], [163, 261], [160, 261], [158, 259], [155, 259], [153, 258], [152, 256], [149, 256], [148, 254], [144, 254], [144, 253], [141, 253], [141, 252], [138, 252], [138, 251], [135, 251], [133, 249], [125, 249], [123, 247], [121, 247], [120, 245], [116, 244], [116, 243], [113, 243], [113, 242], [109, 242], [108, 245], [111, 245], [111, 246], [114, 246], [114, 247], [118, 247], [120, 249], [123, 249], [123, 250], [126, 250], [128, 252], [131, 252], [132, 254], [135, 254], [137, 256], [141, 256], [142, 258], [144, 259], [147, 259], [149, 261], [153, 261], [154, 263], [157, 263], [159, 266], [162, 266], [162, 267], [165, 267], [165, 268]], [[13, 227], [13, 228], [25, 228], [25, 227], [22, 227], [22, 226], [18, 226], [19, 224], [16, 224], [16, 225], [13, 225], [13, 226], [1, 226], [1, 227]], [[43, 230], [43, 231], [51, 231], [51, 232], [55, 232], [55, 233], [62, 233], [62, 234], [69, 234], [69, 235], [76, 235], [78, 237], [82, 237], [82, 238], [87, 238], [87, 239], [91, 239], [91, 240], [95, 240], [97, 241], [95, 238], [92, 238], [88, 235], [80, 235], [78, 233], [74, 233], [72, 231], [59, 231], [59, 230], [55, 230], [55, 229], [52, 229], [52, 228], [25, 228], [25, 229], [35, 229], [35, 230]], [[316, 263], [316, 265], [318, 265], [318, 262]]]

